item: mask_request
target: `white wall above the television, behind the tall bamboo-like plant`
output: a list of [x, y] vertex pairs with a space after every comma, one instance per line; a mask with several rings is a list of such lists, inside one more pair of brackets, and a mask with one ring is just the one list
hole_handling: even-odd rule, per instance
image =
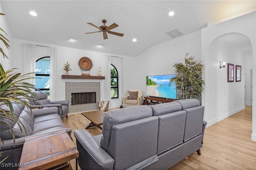
[[[126, 85], [134, 89], [142, 89], [146, 96], [146, 76], [174, 74], [174, 63], [184, 63], [186, 53], [188, 57], [195, 56], [201, 61], [201, 31], [155, 45], [136, 57], [136, 67], [132, 72], [137, 79], [130, 76]], [[132, 74], [131, 74], [132, 75]]]

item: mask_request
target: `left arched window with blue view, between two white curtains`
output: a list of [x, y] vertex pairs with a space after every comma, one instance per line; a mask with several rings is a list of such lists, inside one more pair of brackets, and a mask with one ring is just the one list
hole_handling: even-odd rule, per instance
[[36, 60], [36, 87], [50, 97], [50, 57]]

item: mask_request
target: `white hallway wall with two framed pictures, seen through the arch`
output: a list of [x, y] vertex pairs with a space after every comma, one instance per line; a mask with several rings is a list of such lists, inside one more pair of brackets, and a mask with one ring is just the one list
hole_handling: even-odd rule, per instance
[[[235, 81], [235, 67], [241, 65], [244, 68], [244, 53], [234, 47], [216, 40], [208, 49], [206, 61], [206, 101], [204, 119], [208, 126], [212, 125], [242, 109], [244, 109], [244, 70], [240, 82]], [[227, 82], [227, 66], [219, 68], [219, 61], [234, 64], [234, 82]], [[209, 71], [210, 70], [210, 71]], [[210, 95], [210, 97], [208, 97]]]

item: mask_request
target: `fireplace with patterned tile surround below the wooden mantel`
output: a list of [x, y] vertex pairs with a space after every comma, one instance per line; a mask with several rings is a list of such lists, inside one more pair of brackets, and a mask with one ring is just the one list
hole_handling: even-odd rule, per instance
[[98, 110], [100, 82], [66, 82], [66, 100], [68, 113]]

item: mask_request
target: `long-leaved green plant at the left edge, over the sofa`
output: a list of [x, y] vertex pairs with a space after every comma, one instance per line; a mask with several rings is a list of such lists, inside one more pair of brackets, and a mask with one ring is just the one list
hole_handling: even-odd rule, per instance
[[[0, 15], [4, 15], [0, 13]], [[6, 32], [0, 28], [0, 30], [7, 36]], [[0, 40], [4, 43], [7, 49], [10, 48], [8, 44], [9, 40], [0, 34]], [[6, 53], [4, 53], [2, 47], [0, 47], [0, 52], [2, 53], [3, 57], [7, 58]], [[2, 67], [2, 63], [0, 63], [0, 124], [6, 127], [10, 127], [12, 137], [15, 144], [15, 137], [14, 132], [12, 130], [12, 125], [10, 122], [15, 122], [22, 130], [22, 123], [18, 119], [18, 117], [14, 113], [14, 109], [12, 107], [13, 103], [20, 103], [28, 108], [30, 103], [28, 99], [32, 99], [30, 96], [33, 95], [32, 89], [36, 89], [36, 87], [30, 83], [24, 82], [26, 79], [33, 79], [34, 77], [30, 77], [29, 74], [21, 75], [21, 73], [14, 72], [15, 69], [9, 69], [4, 71]], [[7, 105], [9, 107], [8, 110], [2, 108], [2, 105]], [[1, 144], [4, 144], [2, 138], [0, 138], [0, 147]], [[3, 152], [0, 152], [0, 156]], [[6, 157], [7, 158], [7, 157]], [[3, 162], [6, 158], [2, 159]]]

